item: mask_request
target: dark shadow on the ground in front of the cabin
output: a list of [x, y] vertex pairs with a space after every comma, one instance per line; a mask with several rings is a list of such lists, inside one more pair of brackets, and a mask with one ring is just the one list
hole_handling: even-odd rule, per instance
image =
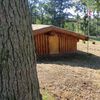
[[92, 69], [100, 69], [100, 57], [87, 54], [85, 52], [78, 51], [75, 54], [65, 55], [52, 55], [38, 57], [37, 63], [41, 64], [59, 64], [59, 65], [70, 65], [73, 67], [87, 67]]

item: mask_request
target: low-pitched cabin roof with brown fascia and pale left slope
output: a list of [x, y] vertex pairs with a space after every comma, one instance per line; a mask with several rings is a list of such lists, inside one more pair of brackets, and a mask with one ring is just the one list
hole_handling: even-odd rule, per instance
[[69, 31], [64, 28], [56, 27], [53, 25], [32, 24], [32, 30], [34, 31], [35, 35], [55, 31], [55, 32], [65, 33], [67, 35], [74, 36], [81, 40], [88, 40], [88, 36], [86, 36], [86, 35], [82, 35], [82, 34], [79, 34], [79, 33], [73, 32], [73, 31]]

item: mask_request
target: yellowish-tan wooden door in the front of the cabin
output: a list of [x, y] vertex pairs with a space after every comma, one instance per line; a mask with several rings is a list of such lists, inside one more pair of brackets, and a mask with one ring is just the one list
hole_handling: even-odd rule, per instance
[[49, 53], [50, 54], [59, 53], [59, 41], [57, 35], [49, 36]]

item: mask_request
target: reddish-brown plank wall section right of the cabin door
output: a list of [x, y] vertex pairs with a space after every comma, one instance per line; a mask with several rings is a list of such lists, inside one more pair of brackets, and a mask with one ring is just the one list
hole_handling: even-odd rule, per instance
[[58, 35], [59, 37], [59, 52], [62, 53], [74, 53], [77, 50], [77, 38], [69, 35]]

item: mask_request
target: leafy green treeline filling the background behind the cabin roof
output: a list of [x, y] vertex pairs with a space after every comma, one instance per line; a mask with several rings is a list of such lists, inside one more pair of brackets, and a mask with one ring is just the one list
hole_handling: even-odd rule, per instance
[[[30, 0], [33, 6], [32, 16], [34, 24], [52, 24], [68, 30], [87, 34], [88, 23], [96, 27], [90, 34], [98, 34], [99, 25], [99, 0]], [[33, 2], [32, 2], [33, 1]], [[35, 7], [35, 8], [34, 8]], [[72, 9], [74, 13], [69, 12]], [[86, 18], [88, 11], [92, 11], [94, 18]], [[95, 12], [97, 14], [95, 14]], [[88, 20], [87, 20], [88, 19]], [[96, 21], [97, 20], [97, 21]], [[85, 22], [86, 21], [86, 22]], [[95, 25], [95, 26], [94, 26]]]

